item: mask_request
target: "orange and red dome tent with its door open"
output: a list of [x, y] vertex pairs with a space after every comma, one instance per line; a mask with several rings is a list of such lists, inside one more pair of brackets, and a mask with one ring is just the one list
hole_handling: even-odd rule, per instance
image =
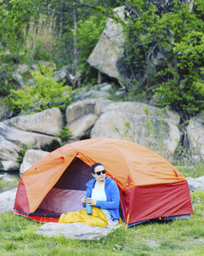
[[116, 181], [128, 226], [149, 219], [190, 218], [193, 213], [188, 183], [171, 163], [139, 144], [111, 138], [66, 144], [31, 166], [20, 177], [14, 212], [57, 222], [61, 213], [82, 209], [95, 162]]

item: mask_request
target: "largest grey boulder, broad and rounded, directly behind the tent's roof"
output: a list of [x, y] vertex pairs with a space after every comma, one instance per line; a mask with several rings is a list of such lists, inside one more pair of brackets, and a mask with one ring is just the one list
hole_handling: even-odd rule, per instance
[[[143, 108], [149, 109], [148, 116]], [[103, 114], [95, 122], [91, 138], [126, 139], [173, 160], [180, 142], [180, 132], [176, 126], [179, 116], [170, 111], [156, 115], [156, 110], [161, 109], [136, 102], [110, 103], [103, 108]]]

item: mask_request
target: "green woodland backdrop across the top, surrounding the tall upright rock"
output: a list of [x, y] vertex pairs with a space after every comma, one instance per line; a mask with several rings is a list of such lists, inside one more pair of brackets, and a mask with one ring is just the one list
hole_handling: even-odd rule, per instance
[[[81, 87], [96, 84], [97, 74], [87, 60], [105, 28], [105, 20], [111, 17], [125, 32], [125, 100], [137, 100], [151, 91], [160, 95], [161, 104], [178, 111], [183, 123], [188, 121], [204, 109], [204, 3], [166, 2], [168, 9], [164, 11], [154, 0], [1, 1], [0, 96], [9, 108], [20, 108], [14, 103], [20, 93], [15, 93], [18, 86], [12, 77], [19, 63], [53, 61], [57, 69], [69, 65], [71, 73], [80, 73]], [[124, 20], [113, 10], [118, 6], [126, 6]], [[156, 68], [150, 56], [158, 51], [165, 58]], [[38, 73], [38, 77], [42, 74], [41, 81], [45, 73]], [[142, 74], [145, 79], [140, 79]]]

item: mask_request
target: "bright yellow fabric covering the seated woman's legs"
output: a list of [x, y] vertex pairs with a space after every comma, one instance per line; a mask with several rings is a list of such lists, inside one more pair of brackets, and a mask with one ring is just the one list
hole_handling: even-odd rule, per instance
[[92, 214], [87, 214], [86, 208], [77, 212], [68, 212], [61, 214], [59, 223], [82, 223], [90, 226], [105, 227], [108, 220], [105, 213], [98, 207], [92, 207]]

